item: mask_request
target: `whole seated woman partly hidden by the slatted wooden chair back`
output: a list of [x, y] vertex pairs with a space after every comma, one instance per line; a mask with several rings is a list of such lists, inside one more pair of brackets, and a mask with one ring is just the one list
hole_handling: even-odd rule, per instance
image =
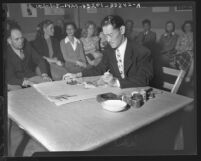
[[155, 88], [164, 89], [164, 80], [169, 80], [169, 83], [174, 82], [174, 77], [165, 75], [162, 67], [173, 68], [174, 55], [176, 53], [175, 46], [177, 43], [178, 35], [175, 33], [175, 23], [168, 21], [165, 24], [165, 33], [161, 35], [157, 48], [155, 48], [154, 58], [154, 73], [155, 76], [151, 85]]

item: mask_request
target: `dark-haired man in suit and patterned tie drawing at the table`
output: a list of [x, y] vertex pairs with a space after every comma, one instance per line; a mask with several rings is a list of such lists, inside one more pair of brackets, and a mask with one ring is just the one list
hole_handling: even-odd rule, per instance
[[[148, 85], [153, 76], [150, 51], [125, 37], [125, 24], [121, 17], [107, 16], [101, 26], [108, 41], [102, 61], [94, 68], [71, 74], [71, 78], [102, 75], [109, 70], [110, 74], [104, 81], [111, 86], [129, 88]], [[69, 73], [63, 79], [70, 82]]]

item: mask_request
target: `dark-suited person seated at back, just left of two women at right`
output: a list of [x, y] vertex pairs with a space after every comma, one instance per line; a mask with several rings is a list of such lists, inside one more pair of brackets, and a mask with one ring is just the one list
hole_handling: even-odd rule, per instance
[[145, 47], [147, 47], [149, 50], [151, 50], [151, 52], [153, 52], [153, 47], [156, 43], [156, 33], [151, 31], [150, 20], [148, 19], [143, 20], [142, 25], [143, 25], [144, 31], [139, 33], [139, 35], [136, 38], [136, 41], [139, 44], [142, 44]]

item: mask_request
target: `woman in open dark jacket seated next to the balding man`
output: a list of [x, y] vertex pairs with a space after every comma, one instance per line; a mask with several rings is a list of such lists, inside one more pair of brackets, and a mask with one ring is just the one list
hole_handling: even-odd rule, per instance
[[54, 36], [54, 25], [50, 20], [45, 20], [38, 25], [36, 38], [33, 41], [35, 50], [50, 64], [50, 71], [54, 80], [60, 80], [63, 73], [64, 59], [61, 54], [59, 41]]

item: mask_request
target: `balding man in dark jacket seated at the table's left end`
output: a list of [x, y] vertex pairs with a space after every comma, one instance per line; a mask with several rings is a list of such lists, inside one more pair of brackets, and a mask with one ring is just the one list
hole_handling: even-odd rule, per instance
[[[46, 62], [40, 57], [31, 45], [24, 41], [21, 29], [13, 26], [7, 35], [7, 83], [9, 89], [19, 89], [34, 83], [51, 81], [47, 74]], [[33, 63], [39, 66], [41, 76], [36, 76], [31, 69]], [[9, 90], [8, 89], [8, 90]]]

